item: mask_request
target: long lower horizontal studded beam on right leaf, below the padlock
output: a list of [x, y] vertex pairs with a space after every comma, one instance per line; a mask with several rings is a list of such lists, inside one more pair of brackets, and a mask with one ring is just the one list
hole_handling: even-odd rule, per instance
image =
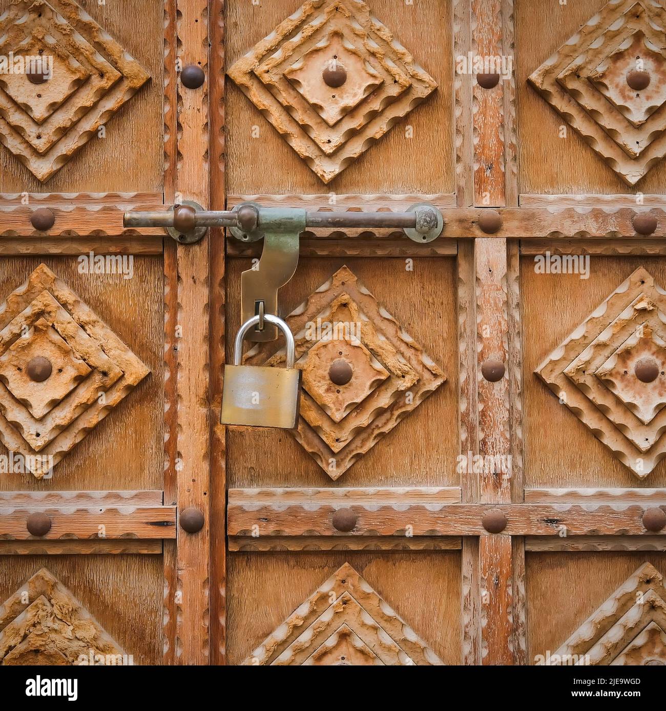
[[[462, 536], [488, 535], [483, 520], [494, 510], [506, 518], [503, 535], [654, 535], [643, 526], [648, 508], [666, 503], [646, 497], [612, 503], [572, 496], [552, 503], [450, 503], [457, 490], [231, 489], [228, 535], [263, 536]], [[453, 494], [452, 491], [456, 493]], [[353, 492], [353, 493], [352, 493]], [[351, 530], [334, 525], [334, 513], [349, 509]], [[501, 517], [500, 517], [501, 518]], [[663, 531], [666, 535], [666, 529]]]

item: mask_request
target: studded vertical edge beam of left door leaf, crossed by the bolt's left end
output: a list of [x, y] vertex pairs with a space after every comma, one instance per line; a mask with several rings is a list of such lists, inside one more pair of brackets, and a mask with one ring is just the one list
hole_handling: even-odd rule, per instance
[[[208, 82], [187, 89], [177, 68], [200, 66], [208, 71], [208, 3], [206, 0], [167, 2], [176, 26], [165, 28], [165, 197], [194, 200], [208, 206]], [[175, 101], [174, 101], [175, 99]], [[176, 137], [174, 152], [167, 154]], [[168, 160], [167, 160], [168, 158]], [[175, 173], [173, 172], [175, 171]], [[175, 182], [174, 182], [175, 174]], [[165, 496], [175, 498], [179, 513], [190, 507], [203, 513], [197, 533], [177, 527], [176, 550], [165, 550], [165, 661], [205, 664], [209, 658], [208, 485], [210, 420], [209, 261], [208, 238], [196, 245], [166, 244], [166, 355], [169, 371], [166, 395]], [[173, 560], [175, 559], [175, 560]]]

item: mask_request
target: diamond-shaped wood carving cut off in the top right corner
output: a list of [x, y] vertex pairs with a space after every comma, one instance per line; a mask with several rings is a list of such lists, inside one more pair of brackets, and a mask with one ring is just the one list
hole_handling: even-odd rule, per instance
[[[643, 89], [630, 86], [645, 73]], [[610, 0], [529, 80], [615, 173], [637, 183], [666, 155], [666, 10]]]

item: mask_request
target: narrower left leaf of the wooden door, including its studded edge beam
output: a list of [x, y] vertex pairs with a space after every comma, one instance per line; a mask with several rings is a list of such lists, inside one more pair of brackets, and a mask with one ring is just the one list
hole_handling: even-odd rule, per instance
[[1, 663], [205, 663], [206, 2], [0, 11]]

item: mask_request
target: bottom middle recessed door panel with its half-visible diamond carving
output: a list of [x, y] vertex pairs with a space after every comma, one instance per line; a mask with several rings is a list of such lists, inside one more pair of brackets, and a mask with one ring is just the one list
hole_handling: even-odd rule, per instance
[[[396, 614], [401, 618], [413, 633], [421, 638], [425, 646], [432, 650], [432, 653], [424, 653], [424, 658], [428, 658], [430, 663], [460, 663], [459, 552], [236, 552], [230, 555], [228, 563], [229, 663], [265, 663], [263, 658], [255, 657], [256, 648], [322, 584], [326, 587], [327, 580], [343, 566], [340, 582], [344, 582], [340, 589], [349, 586], [352, 598], [349, 601], [350, 606], [357, 598], [361, 606], [367, 606], [366, 610], [371, 618], [380, 617], [368, 601], [364, 602], [364, 589], [355, 587], [353, 578], [356, 572], [371, 587], [373, 594], [376, 592], [384, 600], [385, 611], [389, 611], [391, 616]], [[345, 577], [350, 577], [350, 580], [347, 581]], [[333, 594], [330, 594], [331, 591]], [[301, 642], [300, 647], [305, 649], [305, 653], [300, 652], [293, 657], [287, 653], [279, 659], [277, 656], [272, 657], [268, 663], [410, 663], [404, 656], [401, 661], [389, 661], [391, 643], [386, 643], [386, 636], [382, 639], [381, 634], [379, 640], [376, 638], [372, 621], [364, 620], [362, 615], [351, 615], [347, 622], [342, 622], [341, 618], [337, 619], [337, 616], [332, 614], [329, 606], [340, 597], [339, 590], [336, 592], [334, 587], [327, 588], [324, 597], [326, 600], [322, 604], [322, 620], [296, 625], [292, 633], [293, 640], [289, 641], [297, 639], [313, 621], [315, 629], [319, 626], [324, 630], [319, 633], [319, 637], [315, 635], [314, 641], [308, 639]], [[315, 618], [319, 618], [319, 614]], [[330, 626], [329, 616], [332, 616]], [[376, 623], [384, 625], [383, 629], [388, 636], [398, 636], [394, 622], [376, 619]], [[374, 648], [384, 661], [377, 661], [374, 654], [370, 653], [351, 659], [344, 658], [344, 648], [337, 639], [329, 642], [329, 645], [338, 651], [334, 661], [333, 655], [322, 656], [320, 661], [317, 660], [315, 653], [320, 646], [325, 646], [325, 643], [319, 645], [317, 639], [329, 640], [341, 624], [347, 624], [354, 634], [364, 638], [368, 643], [364, 644], [363, 648]], [[286, 642], [285, 639], [285, 643], [280, 643], [280, 648], [286, 648]], [[357, 646], [361, 648], [360, 643], [357, 643]], [[397, 646], [407, 650], [409, 648], [404, 642], [398, 643]], [[412, 663], [423, 663], [423, 659], [414, 659]]]

